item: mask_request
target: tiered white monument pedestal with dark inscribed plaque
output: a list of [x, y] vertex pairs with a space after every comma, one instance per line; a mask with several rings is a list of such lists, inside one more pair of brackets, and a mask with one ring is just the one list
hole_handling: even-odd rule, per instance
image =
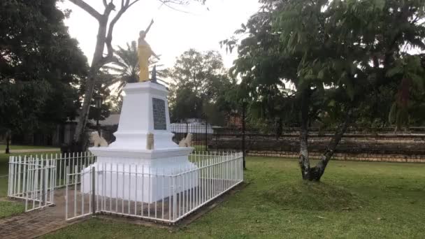
[[[115, 142], [109, 147], [89, 148], [97, 157], [94, 166], [99, 172], [96, 184], [100, 186], [96, 191], [100, 196], [153, 203], [173, 193], [171, 175], [196, 168], [188, 158], [194, 149], [178, 147], [172, 140], [168, 91], [163, 85], [131, 83], [124, 87], [124, 93]], [[153, 150], [146, 150], [148, 133], [154, 134]], [[85, 193], [90, 191], [89, 177], [85, 173]], [[197, 186], [198, 175], [188, 178], [190, 182], [185, 187], [176, 187], [177, 193]]]

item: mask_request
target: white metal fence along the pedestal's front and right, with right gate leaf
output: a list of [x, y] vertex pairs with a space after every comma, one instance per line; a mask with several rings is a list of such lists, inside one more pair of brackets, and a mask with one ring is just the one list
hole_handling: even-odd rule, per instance
[[101, 212], [175, 223], [243, 182], [240, 152], [196, 152], [189, 160], [173, 171], [96, 163], [67, 173], [66, 219]]

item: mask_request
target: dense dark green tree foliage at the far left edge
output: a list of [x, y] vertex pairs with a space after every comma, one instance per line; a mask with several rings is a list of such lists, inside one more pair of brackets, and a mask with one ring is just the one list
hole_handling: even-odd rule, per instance
[[73, 118], [87, 59], [57, 0], [0, 3], [0, 125], [20, 133]]

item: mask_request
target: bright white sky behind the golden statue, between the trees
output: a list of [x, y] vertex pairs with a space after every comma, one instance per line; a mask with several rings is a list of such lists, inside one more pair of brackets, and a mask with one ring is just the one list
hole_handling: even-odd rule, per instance
[[[103, 13], [101, 0], [86, 0], [99, 13]], [[115, 1], [119, 8], [121, 1]], [[65, 24], [69, 33], [80, 42], [80, 48], [92, 61], [97, 21], [84, 10], [68, 0], [59, 4], [61, 9], [71, 9], [72, 13]], [[146, 40], [157, 55], [161, 55], [159, 64], [171, 67], [175, 58], [188, 50], [218, 50], [222, 53], [224, 66], [232, 66], [236, 59], [236, 52], [226, 54], [221, 49], [219, 41], [229, 38], [233, 32], [245, 23], [253, 13], [259, 9], [257, 0], [207, 0], [206, 5], [191, 3], [189, 6], [175, 6], [182, 11], [161, 6], [157, 0], [141, 0], [131, 6], [120, 21], [115, 24], [113, 32], [113, 46], [125, 46], [126, 43], [137, 41], [138, 32], [146, 29], [150, 20], [154, 24], [147, 34]], [[208, 10], [208, 9], [209, 10]]]

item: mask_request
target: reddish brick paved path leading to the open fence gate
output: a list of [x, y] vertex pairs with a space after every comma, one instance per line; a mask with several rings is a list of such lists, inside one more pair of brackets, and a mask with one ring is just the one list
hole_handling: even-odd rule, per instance
[[0, 238], [36, 238], [46, 233], [56, 231], [80, 220], [65, 220], [64, 190], [55, 191], [54, 207], [24, 212], [13, 217], [0, 219]]

